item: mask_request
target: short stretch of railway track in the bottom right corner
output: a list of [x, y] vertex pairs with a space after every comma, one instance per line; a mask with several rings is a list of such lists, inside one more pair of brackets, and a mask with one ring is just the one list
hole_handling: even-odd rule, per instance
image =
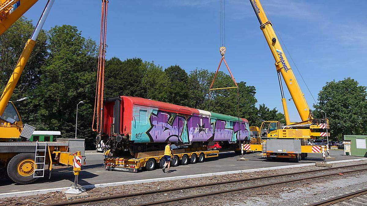
[[[320, 201], [320, 202], [315, 202], [315, 203], [312, 203], [308, 206], [327, 206], [327, 205], [331, 205], [331, 204], [335, 204], [335, 203], [341, 203], [341, 205], [343, 205], [343, 202], [346, 202], [348, 203], [348, 200], [350, 199], [354, 199], [356, 198], [356, 200], [352, 200], [353, 203], [352, 205], [354, 204], [366, 204], [367, 203], [367, 188], [364, 189], [364, 190], [358, 190], [358, 191], [355, 191], [355, 192], [350, 192], [348, 194], [345, 194], [345, 195], [340, 195], [340, 196], [337, 196], [337, 197], [334, 197], [334, 198], [330, 198], [330, 199], [326, 199], [326, 200], [323, 200], [323, 201]], [[361, 195], [365, 195], [366, 197], [363, 197], [363, 198], [359, 198], [358, 196], [361, 196]], [[350, 205], [348, 203], [348, 205]]]

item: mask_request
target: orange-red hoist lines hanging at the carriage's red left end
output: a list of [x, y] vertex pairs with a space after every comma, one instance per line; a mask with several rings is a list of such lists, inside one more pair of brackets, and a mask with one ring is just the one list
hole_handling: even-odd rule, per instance
[[[92, 130], [98, 133], [102, 131], [102, 109], [103, 109], [103, 89], [105, 75], [105, 57], [106, 57], [106, 34], [107, 34], [107, 10], [108, 0], [102, 0], [101, 5], [101, 31], [99, 36], [99, 53], [97, 67], [97, 82], [95, 88], [95, 100]], [[94, 124], [96, 122], [96, 124]]]

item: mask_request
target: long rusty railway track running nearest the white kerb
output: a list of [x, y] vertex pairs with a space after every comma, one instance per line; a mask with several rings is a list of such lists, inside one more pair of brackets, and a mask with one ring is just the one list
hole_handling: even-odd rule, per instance
[[[182, 190], [188, 190], [192, 188], [204, 188], [204, 187], [211, 187], [215, 185], [223, 185], [223, 184], [230, 184], [230, 183], [240, 183], [240, 182], [246, 182], [246, 181], [254, 181], [254, 180], [265, 180], [265, 179], [272, 179], [276, 177], [284, 177], [284, 176], [294, 176], [299, 174], [307, 174], [307, 173], [314, 173], [314, 172], [325, 172], [328, 170], [338, 170], [338, 169], [350, 169], [357, 166], [367, 166], [367, 163], [364, 164], [358, 164], [358, 165], [349, 165], [349, 166], [339, 166], [335, 168], [327, 168], [327, 169], [316, 169], [316, 170], [309, 170], [309, 171], [303, 171], [303, 172], [293, 172], [293, 173], [284, 173], [284, 174], [276, 174], [276, 175], [268, 175], [268, 176], [262, 176], [262, 177], [252, 177], [252, 178], [244, 178], [239, 180], [228, 180], [228, 181], [221, 181], [217, 183], [208, 183], [208, 184], [199, 184], [199, 185], [189, 185], [189, 186], [183, 186], [183, 187], [176, 187], [176, 188], [168, 188], [163, 190], [152, 190], [152, 191], [145, 191], [145, 192], [137, 192], [132, 194], [122, 194], [122, 195], [113, 195], [113, 196], [106, 196], [106, 197], [99, 197], [99, 198], [91, 198], [91, 199], [80, 199], [73, 202], [59, 202], [55, 204], [49, 204], [46, 206], [56, 206], [56, 205], [93, 205], [98, 203], [105, 203], [108, 201], [119, 201], [119, 200], [126, 200], [128, 198], [134, 198], [134, 197], [144, 197], [149, 195], [156, 195], [156, 194], [162, 194], [167, 192], [173, 192], [173, 191], [182, 191]], [[334, 173], [327, 173], [327, 174], [321, 174], [316, 176], [310, 176], [310, 177], [301, 177], [298, 179], [290, 179], [285, 181], [277, 181], [273, 183], [267, 183], [267, 184], [259, 184], [259, 185], [252, 185], [247, 187], [239, 187], [234, 188], [230, 190], [220, 190], [220, 191], [214, 191], [214, 192], [207, 192], [202, 194], [196, 194], [196, 195], [189, 195], [189, 196], [183, 196], [178, 198], [172, 198], [172, 199], [165, 199], [161, 201], [153, 201], [153, 202], [144, 202], [141, 204], [137, 204], [135, 206], [142, 206], [142, 205], [168, 205], [172, 203], [182, 202], [182, 201], [189, 201], [193, 199], [200, 199], [200, 198], [206, 198], [210, 196], [215, 195], [221, 195], [231, 192], [239, 192], [243, 190], [252, 190], [255, 188], [261, 188], [261, 187], [267, 187], [271, 185], [279, 185], [284, 183], [292, 183], [292, 182], [298, 182], [302, 180], [311, 180], [311, 179], [317, 179], [320, 177], [327, 177], [327, 176], [334, 176], [338, 175], [340, 173], [353, 173], [353, 172], [360, 172], [367, 170], [367, 167], [359, 168], [359, 169], [353, 169], [353, 170], [347, 170], [347, 171], [338, 171]]]

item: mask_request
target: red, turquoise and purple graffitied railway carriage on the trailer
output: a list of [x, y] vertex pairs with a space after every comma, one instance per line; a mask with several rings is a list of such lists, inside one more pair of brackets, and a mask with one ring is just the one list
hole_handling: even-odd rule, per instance
[[200, 148], [215, 141], [236, 147], [249, 140], [247, 119], [150, 99], [105, 98], [102, 115], [101, 139], [134, 153], [162, 150], [167, 141]]

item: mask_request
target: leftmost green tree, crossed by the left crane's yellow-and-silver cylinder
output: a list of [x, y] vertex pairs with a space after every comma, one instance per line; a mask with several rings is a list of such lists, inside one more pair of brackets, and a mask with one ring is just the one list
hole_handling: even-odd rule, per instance
[[[3, 91], [23, 48], [34, 30], [32, 21], [25, 17], [19, 18], [6, 32], [0, 36], [0, 89]], [[32, 95], [32, 90], [40, 82], [39, 68], [47, 58], [47, 37], [41, 30], [36, 45], [26, 63], [21, 78], [12, 95], [12, 100]]]

